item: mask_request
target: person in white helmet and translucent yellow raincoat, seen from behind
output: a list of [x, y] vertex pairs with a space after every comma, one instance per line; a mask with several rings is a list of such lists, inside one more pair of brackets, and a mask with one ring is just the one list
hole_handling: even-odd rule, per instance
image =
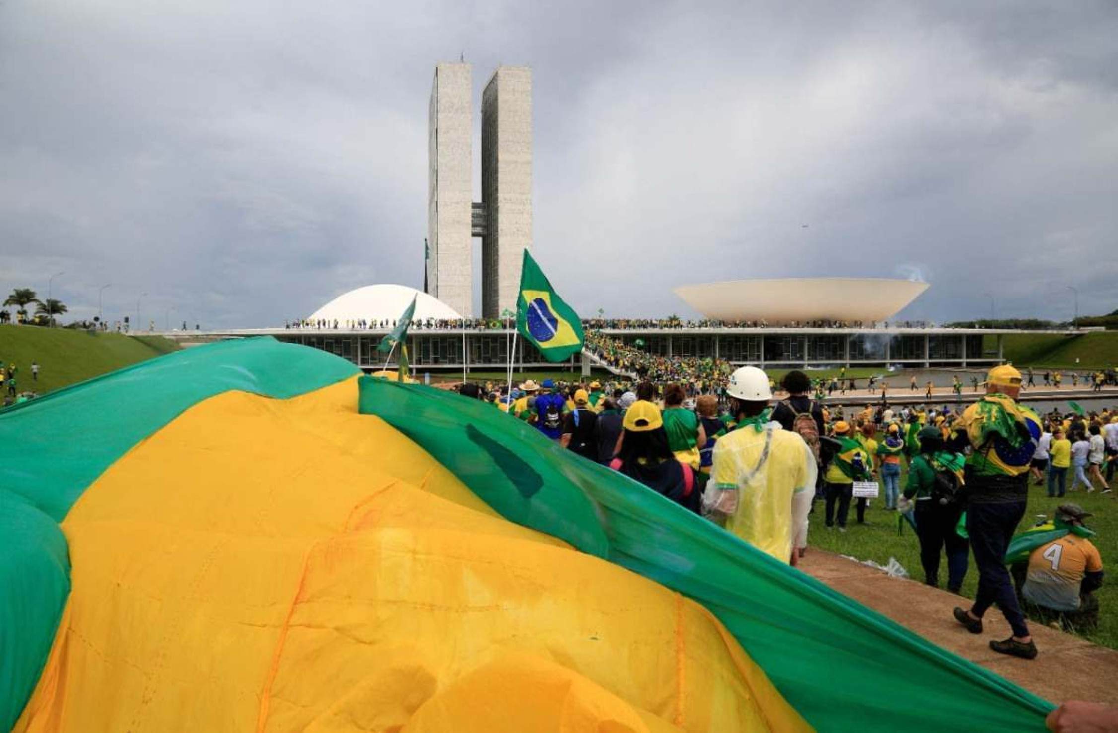
[[761, 552], [796, 564], [807, 545], [807, 513], [817, 466], [798, 433], [770, 422], [773, 392], [757, 367], [741, 367], [726, 389], [738, 419], [733, 432], [714, 443], [704, 514]]

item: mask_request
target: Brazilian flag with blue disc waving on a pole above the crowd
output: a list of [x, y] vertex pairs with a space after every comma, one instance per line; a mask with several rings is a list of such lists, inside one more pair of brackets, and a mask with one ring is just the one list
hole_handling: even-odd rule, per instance
[[582, 350], [582, 321], [551, 288], [528, 250], [524, 250], [524, 263], [520, 269], [517, 330], [548, 361], [562, 361]]

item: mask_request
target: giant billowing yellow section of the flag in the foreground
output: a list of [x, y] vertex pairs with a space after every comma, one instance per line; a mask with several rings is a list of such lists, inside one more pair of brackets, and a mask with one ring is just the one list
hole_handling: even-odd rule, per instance
[[704, 608], [499, 517], [356, 391], [219, 395], [111, 467], [16, 730], [807, 729]]

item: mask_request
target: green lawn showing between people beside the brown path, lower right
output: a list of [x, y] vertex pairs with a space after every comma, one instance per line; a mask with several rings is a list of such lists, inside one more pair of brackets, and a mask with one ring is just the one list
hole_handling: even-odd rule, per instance
[[[901, 477], [903, 488], [904, 476]], [[1070, 479], [1069, 479], [1070, 482]], [[1118, 500], [1114, 494], [1100, 495], [1098, 491], [1086, 494], [1080, 489], [1069, 494], [1062, 501], [1073, 501], [1095, 514], [1088, 519], [1088, 526], [1097, 533], [1092, 539], [1102, 554], [1102, 564], [1107, 572], [1102, 589], [1097, 591], [1101, 605], [1100, 622], [1097, 631], [1084, 637], [1095, 643], [1118, 649], [1118, 582], [1115, 571], [1118, 570]], [[1060, 500], [1049, 499], [1043, 487], [1030, 486], [1029, 509], [1021, 527], [1030, 527], [1036, 523], [1036, 515], [1044, 514], [1050, 518], [1055, 513]], [[846, 533], [827, 529], [823, 523], [823, 501], [815, 502], [815, 513], [811, 516], [807, 542], [812, 547], [851, 555], [859, 560], [872, 560], [884, 565], [889, 557], [896, 557], [915, 580], [923, 581], [923, 570], [920, 566], [920, 544], [916, 533], [906, 524], [901, 534], [897, 530], [898, 515], [884, 510], [884, 499], [873, 499], [865, 513], [869, 524], [855, 524], [854, 504], [851, 502], [850, 519]], [[811, 551], [808, 551], [811, 552]], [[947, 561], [939, 568], [941, 586], [947, 582]], [[973, 599], [978, 584], [978, 573], [970, 558], [963, 594]], [[991, 613], [997, 613], [992, 609]], [[945, 620], [945, 623], [947, 620]]]

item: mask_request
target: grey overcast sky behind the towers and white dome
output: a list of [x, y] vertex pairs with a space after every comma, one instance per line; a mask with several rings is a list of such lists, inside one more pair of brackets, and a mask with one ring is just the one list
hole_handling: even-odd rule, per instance
[[205, 328], [421, 288], [465, 54], [475, 113], [533, 68], [534, 252], [584, 316], [913, 272], [912, 318], [1118, 308], [1112, 1], [542, 4], [0, 0], [0, 289]]

